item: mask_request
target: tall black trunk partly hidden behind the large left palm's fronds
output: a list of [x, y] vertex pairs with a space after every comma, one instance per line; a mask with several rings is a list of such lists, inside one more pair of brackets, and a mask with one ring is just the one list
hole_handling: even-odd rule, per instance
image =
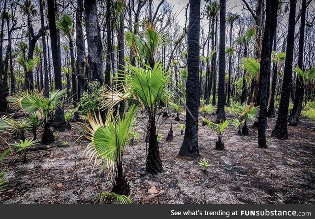
[[[56, 5], [54, 0], [47, 0], [48, 7], [48, 22], [49, 22], [49, 33], [51, 43], [51, 53], [53, 57], [54, 75], [55, 75], [55, 88], [56, 90], [62, 90], [62, 75], [61, 75], [61, 59], [60, 52], [58, 49], [58, 36], [56, 28]], [[54, 128], [58, 131], [65, 130], [65, 120], [63, 106], [58, 108], [55, 112]]]

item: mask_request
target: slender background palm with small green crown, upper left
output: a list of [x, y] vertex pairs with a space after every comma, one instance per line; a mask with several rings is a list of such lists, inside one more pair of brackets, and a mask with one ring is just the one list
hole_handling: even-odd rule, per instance
[[[72, 18], [68, 15], [63, 15], [58, 21], [56, 21], [56, 27], [63, 32], [63, 34], [69, 40], [69, 49], [70, 49], [70, 62], [71, 62], [71, 81], [72, 81], [72, 95], [77, 92], [77, 82], [74, 69], [74, 45], [73, 45], [73, 36], [74, 28]], [[73, 100], [76, 100], [76, 97], [73, 96]], [[74, 102], [75, 103], [75, 102]]]

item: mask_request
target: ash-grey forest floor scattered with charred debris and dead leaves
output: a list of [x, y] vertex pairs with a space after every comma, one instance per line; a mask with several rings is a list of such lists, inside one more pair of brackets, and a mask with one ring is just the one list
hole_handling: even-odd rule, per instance
[[[215, 120], [214, 115], [208, 117]], [[185, 124], [184, 118], [181, 115], [181, 121], [175, 122], [173, 115], [161, 126], [159, 146], [164, 171], [157, 176], [145, 172], [144, 125], [137, 120], [142, 137], [127, 146], [124, 156], [134, 203], [315, 204], [315, 124], [308, 119], [301, 119], [297, 127], [288, 126], [289, 140], [282, 141], [270, 137], [276, 120], [268, 118], [267, 149], [257, 147], [256, 130], [250, 128], [249, 136], [238, 136], [228, 127], [225, 149], [215, 150], [215, 133], [200, 126], [200, 157], [211, 164], [204, 172], [197, 159], [178, 156], [184, 138], [178, 125]], [[174, 138], [168, 143], [165, 138], [171, 123]], [[69, 146], [29, 151], [26, 164], [19, 154], [7, 155], [1, 169], [5, 170], [8, 186], [0, 194], [0, 203], [93, 204], [99, 193], [111, 190], [107, 174], [100, 175], [100, 167], [92, 172], [92, 164], [82, 156], [89, 141], [79, 139], [80, 126], [71, 125], [71, 131], [58, 132], [54, 143], [67, 141]], [[4, 138], [8, 143], [17, 141], [10, 135]], [[4, 147], [3, 141], [0, 145]]]

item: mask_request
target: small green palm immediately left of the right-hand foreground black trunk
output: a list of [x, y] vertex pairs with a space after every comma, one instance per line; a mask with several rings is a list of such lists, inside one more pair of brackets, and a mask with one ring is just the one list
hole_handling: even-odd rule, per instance
[[[234, 119], [232, 122], [232, 126], [235, 129], [238, 129], [239, 135], [248, 136], [249, 129], [247, 127], [247, 120], [249, 120], [251, 122], [257, 122], [258, 116], [259, 116], [259, 106], [254, 107], [253, 104], [242, 105], [242, 113], [239, 116], [241, 118], [241, 120]], [[242, 125], [243, 125], [243, 127], [242, 127]], [[241, 127], [242, 127], [242, 131], [241, 131]]]

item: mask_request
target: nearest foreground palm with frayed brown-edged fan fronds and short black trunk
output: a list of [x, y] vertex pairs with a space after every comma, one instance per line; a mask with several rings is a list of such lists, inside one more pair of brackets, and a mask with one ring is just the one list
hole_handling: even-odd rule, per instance
[[84, 154], [90, 160], [94, 158], [95, 165], [105, 161], [110, 170], [115, 166], [116, 177], [112, 192], [120, 195], [129, 195], [130, 193], [130, 185], [124, 173], [123, 155], [125, 147], [129, 144], [129, 139], [134, 133], [133, 125], [136, 112], [137, 109], [133, 106], [124, 113], [124, 116], [121, 117], [118, 114], [116, 118], [113, 111], [110, 111], [106, 116], [105, 123], [103, 123], [100, 113], [95, 117], [88, 113], [91, 128], [89, 128], [89, 134], [86, 137], [92, 143], [87, 146]]

